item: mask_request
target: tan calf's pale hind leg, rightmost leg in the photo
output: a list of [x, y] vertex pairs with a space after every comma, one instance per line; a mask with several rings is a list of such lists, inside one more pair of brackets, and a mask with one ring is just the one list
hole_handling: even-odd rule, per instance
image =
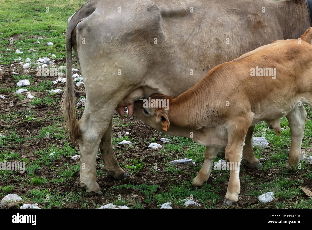
[[295, 106], [295, 108], [286, 115], [286, 118], [290, 127], [291, 146], [284, 171], [294, 171], [296, 169], [296, 163], [300, 159], [303, 132], [305, 130], [305, 121], [307, 119], [305, 107]]

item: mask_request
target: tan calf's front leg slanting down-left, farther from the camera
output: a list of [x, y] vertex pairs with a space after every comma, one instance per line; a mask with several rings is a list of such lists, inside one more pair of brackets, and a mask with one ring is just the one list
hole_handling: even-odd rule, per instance
[[193, 185], [202, 186], [202, 184], [209, 179], [211, 167], [217, 153], [220, 151], [219, 147], [206, 146], [205, 161], [202, 164], [197, 176], [193, 180]]

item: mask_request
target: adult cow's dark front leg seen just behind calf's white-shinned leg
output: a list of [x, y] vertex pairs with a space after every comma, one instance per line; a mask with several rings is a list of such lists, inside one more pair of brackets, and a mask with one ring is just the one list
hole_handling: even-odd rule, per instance
[[262, 167], [262, 164], [260, 163], [258, 158], [255, 157], [255, 154], [252, 150], [252, 133], [254, 129], [255, 129], [255, 125], [252, 125], [248, 128], [248, 132], [245, 138], [245, 146], [243, 148], [243, 157], [242, 157], [243, 164], [251, 169]]

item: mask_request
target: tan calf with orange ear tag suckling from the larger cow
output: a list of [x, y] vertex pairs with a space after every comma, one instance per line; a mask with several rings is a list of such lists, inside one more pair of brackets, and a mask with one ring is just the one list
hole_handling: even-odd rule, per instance
[[[217, 153], [225, 149], [226, 161], [238, 166], [230, 169], [224, 199], [224, 204], [233, 204], [240, 192], [240, 164], [235, 163], [241, 162], [246, 134], [257, 122], [266, 121], [280, 135], [280, 118], [286, 116], [291, 148], [285, 169], [294, 169], [299, 161], [307, 117], [301, 102], [312, 108], [311, 38], [309, 28], [300, 39], [278, 40], [220, 64], [177, 98], [150, 96], [168, 100], [168, 110], [136, 101], [134, 116], [166, 134], [191, 137], [206, 146], [196, 186], [208, 180]], [[267, 76], [264, 68], [276, 70], [275, 75]]]

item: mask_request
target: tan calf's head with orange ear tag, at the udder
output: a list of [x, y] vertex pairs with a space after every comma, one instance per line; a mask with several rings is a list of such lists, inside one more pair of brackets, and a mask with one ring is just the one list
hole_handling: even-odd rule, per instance
[[144, 123], [159, 131], [170, 127], [169, 108], [173, 98], [167, 95], [152, 94], [148, 99], [134, 102], [133, 115], [139, 117]]

